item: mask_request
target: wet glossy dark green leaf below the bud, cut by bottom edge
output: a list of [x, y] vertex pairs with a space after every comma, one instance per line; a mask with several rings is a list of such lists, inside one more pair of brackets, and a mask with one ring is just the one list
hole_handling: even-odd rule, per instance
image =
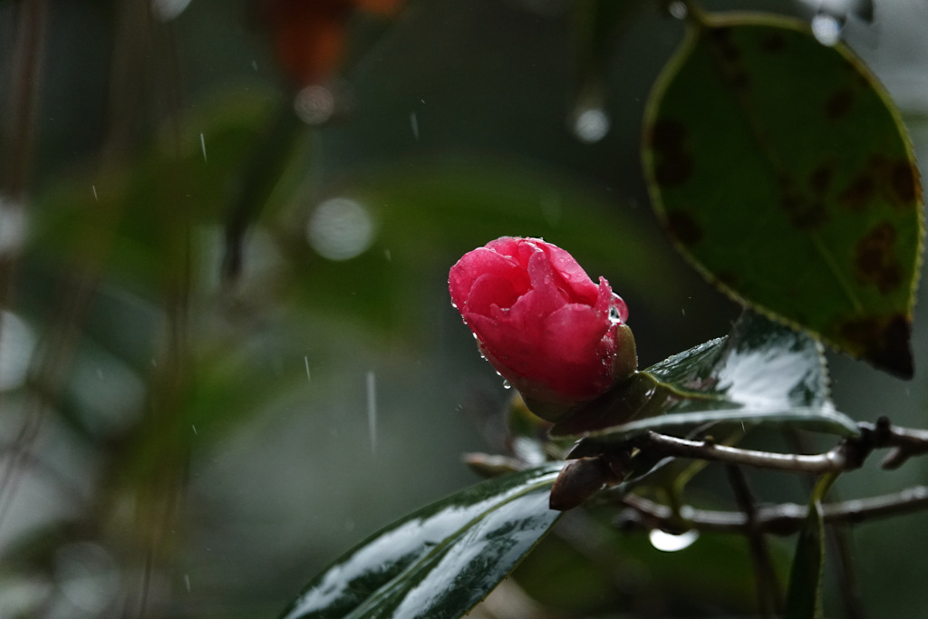
[[557, 521], [548, 493], [561, 466], [483, 482], [391, 524], [316, 576], [282, 617], [467, 613]]

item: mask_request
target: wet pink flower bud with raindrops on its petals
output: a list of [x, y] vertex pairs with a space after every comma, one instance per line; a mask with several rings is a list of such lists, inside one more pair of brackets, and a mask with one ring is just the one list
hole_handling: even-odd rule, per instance
[[625, 302], [544, 240], [503, 237], [469, 251], [448, 288], [483, 355], [540, 417], [561, 419], [638, 367]]

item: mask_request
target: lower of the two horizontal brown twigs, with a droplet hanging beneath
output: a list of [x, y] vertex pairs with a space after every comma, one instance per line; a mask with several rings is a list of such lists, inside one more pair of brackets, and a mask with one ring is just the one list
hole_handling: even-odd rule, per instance
[[[679, 516], [666, 505], [634, 494], [623, 496], [621, 501], [629, 508], [622, 514], [621, 524], [625, 526], [647, 529], [666, 527], [673, 530], [679, 526]], [[853, 524], [925, 508], [928, 508], [928, 486], [925, 485], [912, 486], [891, 495], [871, 496], [822, 506], [827, 524]], [[700, 531], [746, 534], [756, 530], [773, 535], [792, 535], [802, 527], [807, 512], [806, 505], [781, 503], [758, 508], [754, 513], [753, 522], [741, 511], [684, 509], [680, 515], [690, 528]]]

